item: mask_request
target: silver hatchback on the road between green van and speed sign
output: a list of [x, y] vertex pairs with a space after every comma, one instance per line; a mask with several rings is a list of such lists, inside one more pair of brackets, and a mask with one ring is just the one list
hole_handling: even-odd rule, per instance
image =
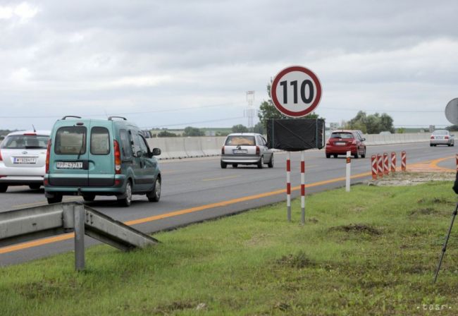
[[273, 167], [273, 152], [268, 149], [266, 139], [256, 133], [233, 133], [225, 139], [221, 148], [221, 168], [228, 164], [237, 168], [239, 164], [256, 164], [262, 168]]

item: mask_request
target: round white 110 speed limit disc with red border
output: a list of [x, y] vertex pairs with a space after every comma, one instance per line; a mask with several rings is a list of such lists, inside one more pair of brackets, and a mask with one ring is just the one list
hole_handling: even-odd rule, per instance
[[291, 66], [276, 75], [271, 98], [278, 111], [286, 116], [306, 116], [318, 107], [321, 83], [310, 69]]

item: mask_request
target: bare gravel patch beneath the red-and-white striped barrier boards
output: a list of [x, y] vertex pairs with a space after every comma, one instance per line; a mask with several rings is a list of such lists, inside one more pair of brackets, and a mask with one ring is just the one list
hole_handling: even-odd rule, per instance
[[451, 172], [396, 172], [377, 180], [368, 181], [369, 186], [416, 186], [430, 181], [454, 181]]

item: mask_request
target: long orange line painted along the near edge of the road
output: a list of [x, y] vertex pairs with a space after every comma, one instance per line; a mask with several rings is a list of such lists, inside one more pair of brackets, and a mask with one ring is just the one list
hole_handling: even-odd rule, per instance
[[[370, 175], [371, 175], [371, 172], [364, 172], [363, 174], [355, 174], [351, 178], [362, 178], [364, 176], [370, 176]], [[345, 177], [333, 178], [333, 179], [330, 179], [330, 180], [318, 181], [318, 182], [315, 182], [315, 183], [306, 184], [305, 187], [306, 188], [313, 188], [313, 187], [316, 187], [316, 186], [323, 186], [323, 185], [328, 184], [328, 183], [335, 183], [335, 182], [344, 181], [344, 180], [345, 180]], [[295, 190], [300, 190], [300, 188], [301, 188], [300, 186], [295, 186], [294, 188], [291, 188], [291, 190], [294, 190], [294, 191]], [[246, 196], [246, 197], [239, 197], [239, 198], [236, 198], [236, 199], [233, 199], [233, 200], [216, 202], [216, 203], [211, 203], [211, 204], [202, 205], [202, 206], [198, 206], [198, 207], [191, 207], [189, 209], [180, 209], [179, 211], [169, 212], [169, 213], [166, 213], [166, 214], [160, 214], [160, 215], [156, 215], [156, 216], [153, 216], [153, 217], [145, 217], [145, 218], [142, 218], [142, 219], [134, 219], [132, 221], [125, 221], [124, 224], [129, 225], [129, 226], [136, 225], [136, 224], [144, 224], [144, 223], [147, 223], [149, 221], [157, 221], [159, 219], [166, 219], [166, 218], [169, 218], [169, 217], [176, 217], [176, 216], [183, 215], [183, 214], [190, 214], [190, 213], [194, 213], [194, 212], [203, 211], [205, 209], [211, 209], [211, 208], [214, 208], [214, 207], [225, 207], [225, 206], [233, 205], [233, 204], [240, 203], [240, 202], [245, 202], [245, 201], [249, 201], [249, 200], [256, 200], [256, 199], [259, 199], [261, 197], [269, 197], [269, 196], [272, 196], [272, 195], [278, 195], [278, 194], [282, 194], [282, 193], [286, 193], [286, 189], [275, 190], [275, 191], [256, 194], [256, 195], [249, 195], [249, 196]], [[50, 237], [50, 238], [43, 238], [43, 239], [40, 239], [38, 241], [29, 241], [29, 242], [25, 242], [25, 243], [20, 243], [19, 245], [11, 245], [11, 246], [7, 246], [7, 247], [4, 247], [4, 248], [0, 248], [0, 254], [2, 254], [2, 253], [12, 253], [14, 251], [24, 250], [24, 249], [32, 248], [32, 247], [37, 247], [39, 245], [47, 245], [49, 243], [56, 243], [58, 241], [66, 241], [68, 239], [74, 238], [74, 236], [75, 236], [75, 233], [66, 233], [66, 234], [63, 234], [63, 235], [60, 235], [60, 236], [55, 236], [55, 237]]]

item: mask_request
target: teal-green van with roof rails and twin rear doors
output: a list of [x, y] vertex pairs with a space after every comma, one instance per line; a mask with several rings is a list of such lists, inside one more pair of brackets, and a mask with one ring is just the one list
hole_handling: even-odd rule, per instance
[[129, 206], [132, 194], [145, 194], [150, 202], [161, 197], [161, 171], [142, 130], [120, 116], [108, 120], [64, 116], [51, 130], [47, 147], [44, 194], [48, 203], [63, 195], [116, 195]]

